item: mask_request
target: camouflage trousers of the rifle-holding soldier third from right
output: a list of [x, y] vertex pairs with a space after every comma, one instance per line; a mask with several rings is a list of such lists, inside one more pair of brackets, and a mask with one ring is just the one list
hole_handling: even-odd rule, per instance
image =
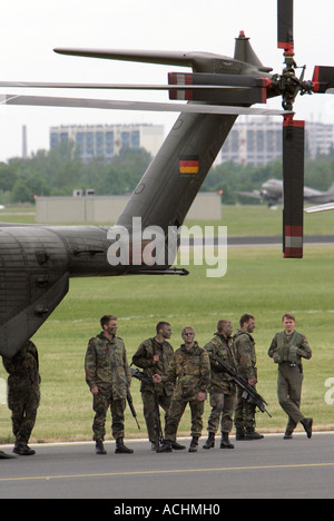
[[207, 423], [208, 432], [216, 434], [219, 423], [222, 433], [232, 431], [235, 397], [235, 394], [210, 393], [212, 412]]

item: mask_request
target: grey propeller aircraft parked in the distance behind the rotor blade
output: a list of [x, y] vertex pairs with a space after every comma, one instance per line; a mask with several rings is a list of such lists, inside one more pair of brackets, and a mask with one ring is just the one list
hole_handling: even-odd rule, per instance
[[[268, 206], [273, 206], [283, 199], [283, 181], [279, 179], [269, 179], [263, 183], [261, 190], [237, 191], [237, 194], [244, 197], [265, 200], [268, 203]], [[318, 204], [334, 201], [334, 183], [327, 191], [321, 191], [304, 186], [304, 201]]]

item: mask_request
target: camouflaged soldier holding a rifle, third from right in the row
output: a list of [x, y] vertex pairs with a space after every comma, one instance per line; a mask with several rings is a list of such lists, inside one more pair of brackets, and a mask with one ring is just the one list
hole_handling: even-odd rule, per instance
[[212, 413], [207, 426], [208, 439], [203, 449], [213, 449], [215, 446], [215, 434], [218, 431], [219, 423], [222, 430], [220, 449], [234, 449], [234, 445], [229, 441], [229, 433], [233, 427], [236, 385], [233, 379], [220, 368], [218, 362], [212, 357], [213, 355], [217, 355], [228, 365], [236, 368], [230, 337], [233, 332], [232, 323], [224, 320], [219, 321], [217, 331], [214, 338], [204, 346], [209, 355], [212, 366], [209, 386]]

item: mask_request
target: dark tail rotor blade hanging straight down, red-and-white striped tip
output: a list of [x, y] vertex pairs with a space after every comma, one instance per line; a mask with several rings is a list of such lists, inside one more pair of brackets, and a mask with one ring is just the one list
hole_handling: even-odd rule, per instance
[[283, 253], [303, 258], [305, 121], [286, 117], [283, 127]]

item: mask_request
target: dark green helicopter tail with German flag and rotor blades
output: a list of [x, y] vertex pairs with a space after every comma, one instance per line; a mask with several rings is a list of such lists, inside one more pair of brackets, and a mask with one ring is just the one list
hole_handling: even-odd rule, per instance
[[[153, 240], [136, 236], [134, 219], [141, 219], [143, 229], [159, 227], [165, 237], [169, 227], [178, 230], [238, 115], [276, 115], [284, 118], [284, 256], [303, 256], [305, 136], [304, 121], [294, 119], [293, 106], [298, 94], [334, 94], [334, 67], [315, 67], [310, 81], [304, 80], [304, 67], [301, 77], [297, 77], [293, 0], [278, 0], [277, 10], [278, 48], [284, 50], [285, 61], [281, 75], [272, 73], [273, 69], [261, 62], [249, 39], [240, 32], [236, 38], [234, 58], [207, 52], [55, 49], [60, 55], [193, 69], [189, 73], [170, 72], [166, 86], [0, 83], [2, 88], [165, 89], [169, 91], [171, 100], [189, 101], [174, 105], [18, 94], [1, 96], [0, 101], [7, 105], [181, 112], [114, 227], [0, 225], [1, 355], [14, 356], [37, 332], [66, 296], [70, 277], [186, 273], [181, 268], [170, 267], [174, 259], [169, 255], [168, 258], [165, 255], [163, 262], [145, 260]], [[283, 110], [252, 107], [278, 96], [283, 100]], [[134, 247], [129, 247], [128, 263], [117, 264], [115, 252], [108, 255], [110, 247], [112, 249], [118, 243], [121, 246], [124, 232], [138, 240], [139, 262]], [[167, 240], [165, 248], [168, 249]]]

